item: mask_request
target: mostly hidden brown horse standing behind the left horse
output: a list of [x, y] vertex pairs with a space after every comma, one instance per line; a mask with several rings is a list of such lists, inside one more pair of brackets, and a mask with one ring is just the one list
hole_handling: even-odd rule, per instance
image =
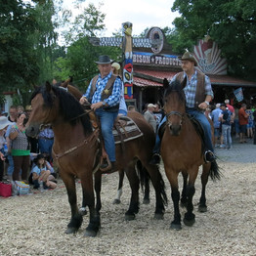
[[[70, 77], [67, 80], [65, 80], [63, 83], [59, 83], [59, 85], [63, 87], [67, 92], [72, 94], [77, 101], [79, 101], [83, 95], [75, 86], [71, 84], [71, 80], [72, 78]], [[129, 115], [129, 112], [128, 112], [128, 115]], [[147, 170], [145, 170], [145, 168], [142, 166], [142, 163], [139, 160], [136, 164], [136, 167], [139, 174], [141, 175], [140, 181], [142, 184], [142, 189], [144, 189], [143, 203], [149, 204], [149, 173], [147, 172]], [[119, 182], [118, 182], [116, 198], [113, 200], [113, 204], [119, 204], [121, 202], [124, 170], [123, 169], [118, 170], [118, 174], [119, 174]], [[85, 205], [82, 205], [82, 207], [80, 208], [80, 211], [83, 214], [86, 214]]]

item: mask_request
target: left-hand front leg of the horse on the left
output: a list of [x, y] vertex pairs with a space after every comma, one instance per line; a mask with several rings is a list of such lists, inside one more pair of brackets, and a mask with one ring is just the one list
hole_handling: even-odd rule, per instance
[[68, 196], [68, 202], [71, 208], [71, 219], [65, 230], [65, 234], [74, 234], [81, 227], [83, 222], [83, 217], [78, 211], [76, 189], [75, 189], [75, 179], [73, 175], [63, 174], [61, 171], [61, 176], [64, 181], [65, 189]]

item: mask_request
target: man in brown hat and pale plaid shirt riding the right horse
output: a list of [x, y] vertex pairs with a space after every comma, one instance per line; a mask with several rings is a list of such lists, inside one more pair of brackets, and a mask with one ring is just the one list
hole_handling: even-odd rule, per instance
[[[183, 71], [177, 73], [171, 82], [175, 80], [182, 82], [185, 78], [187, 78], [187, 85], [184, 88], [184, 93], [186, 96], [186, 112], [201, 124], [204, 133], [205, 144], [204, 160], [205, 162], [213, 162], [215, 161], [216, 157], [214, 155], [214, 149], [211, 141], [211, 125], [203, 113], [203, 110], [209, 107], [209, 104], [213, 99], [213, 91], [210, 79], [207, 75], [195, 68], [197, 62], [190, 52], [186, 52], [181, 58], [181, 61]], [[159, 124], [158, 129], [165, 121], [166, 116]], [[160, 139], [158, 133], [156, 133], [153, 156], [150, 161], [151, 164], [159, 163], [159, 152]]]

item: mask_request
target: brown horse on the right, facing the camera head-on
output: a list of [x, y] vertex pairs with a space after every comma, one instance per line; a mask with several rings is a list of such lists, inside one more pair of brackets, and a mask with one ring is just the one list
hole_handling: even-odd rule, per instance
[[[202, 165], [201, 175], [202, 192], [199, 201], [199, 211], [206, 211], [205, 188], [208, 176], [215, 180], [220, 178], [216, 161], [205, 163], [203, 158], [204, 147], [199, 134], [196, 132], [192, 120], [186, 113], [186, 97], [183, 91], [186, 79], [181, 84], [178, 81], [164, 83], [164, 110], [166, 112], [166, 125], [161, 143], [161, 155], [164, 162], [166, 176], [171, 185], [172, 200], [174, 204], [174, 220], [171, 229], [181, 229], [181, 214], [179, 209], [180, 192], [178, 188], [178, 175], [183, 173], [184, 189], [181, 201], [187, 204], [187, 213], [184, 223], [192, 226], [195, 216], [192, 213], [192, 197], [195, 192], [194, 182]], [[189, 183], [187, 179], [189, 177]]]

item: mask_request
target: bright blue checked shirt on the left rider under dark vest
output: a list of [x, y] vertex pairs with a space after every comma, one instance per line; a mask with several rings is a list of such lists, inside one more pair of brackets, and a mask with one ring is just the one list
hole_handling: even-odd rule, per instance
[[[93, 99], [92, 99], [92, 104], [102, 102], [102, 92], [105, 89], [105, 87], [107, 85], [107, 81], [111, 77], [111, 74], [112, 74], [112, 72], [109, 72], [107, 74], [107, 76], [104, 78], [102, 78], [101, 74], [99, 74], [99, 78], [96, 82], [96, 91], [94, 92]], [[91, 80], [91, 82], [86, 90], [86, 93], [83, 95], [87, 99], [90, 96], [92, 81], [93, 81], [93, 79]], [[122, 88], [122, 81], [121, 81], [121, 79], [116, 78], [113, 83], [112, 94], [107, 99], [104, 100], [104, 102], [107, 103], [108, 107], [114, 107], [119, 104], [121, 88]]]

